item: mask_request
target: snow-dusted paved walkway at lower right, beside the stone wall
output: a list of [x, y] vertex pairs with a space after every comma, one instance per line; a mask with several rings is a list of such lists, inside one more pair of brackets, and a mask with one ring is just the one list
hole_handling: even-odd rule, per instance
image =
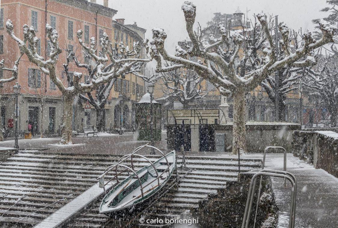
[[[283, 154], [266, 155], [267, 169], [283, 170]], [[322, 169], [315, 169], [292, 154], [287, 154], [286, 170], [297, 178], [295, 228], [338, 227], [338, 178]], [[289, 223], [291, 184], [283, 187], [283, 179], [272, 177], [277, 206], [280, 209], [278, 228]]]

